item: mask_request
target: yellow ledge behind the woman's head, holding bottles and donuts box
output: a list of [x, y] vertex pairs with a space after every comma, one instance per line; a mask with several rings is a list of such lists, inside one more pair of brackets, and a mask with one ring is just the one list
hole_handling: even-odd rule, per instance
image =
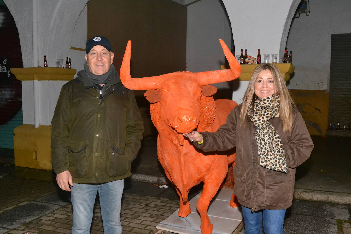
[[[245, 64], [240, 65], [241, 73], [239, 76], [240, 81], [249, 81], [251, 79], [251, 75], [253, 70], [259, 64]], [[278, 67], [279, 71], [283, 75], [283, 79], [288, 81], [290, 79], [290, 75], [294, 72], [295, 67], [291, 63], [274, 63], [274, 66]], [[226, 69], [225, 65], [221, 65], [221, 69]]]

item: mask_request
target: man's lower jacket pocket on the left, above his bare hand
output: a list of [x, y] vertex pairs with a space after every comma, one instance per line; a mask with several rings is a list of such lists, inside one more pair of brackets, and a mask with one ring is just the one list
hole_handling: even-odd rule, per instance
[[73, 177], [82, 178], [87, 171], [88, 142], [71, 142], [68, 147], [69, 172]]

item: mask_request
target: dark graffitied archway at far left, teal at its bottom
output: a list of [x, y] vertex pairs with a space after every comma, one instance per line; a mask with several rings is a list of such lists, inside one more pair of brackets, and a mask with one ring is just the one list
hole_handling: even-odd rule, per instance
[[2, 0], [0, 19], [0, 148], [13, 148], [13, 129], [23, 123], [22, 86], [10, 68], [23, 67], [23, 62], [18, 29]]

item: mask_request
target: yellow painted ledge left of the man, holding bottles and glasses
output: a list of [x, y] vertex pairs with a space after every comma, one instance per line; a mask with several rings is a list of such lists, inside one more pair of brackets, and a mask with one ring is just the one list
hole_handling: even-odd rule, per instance
[[59, 67], [11, 68], [17, 80], [73, 80], [76, 69]]

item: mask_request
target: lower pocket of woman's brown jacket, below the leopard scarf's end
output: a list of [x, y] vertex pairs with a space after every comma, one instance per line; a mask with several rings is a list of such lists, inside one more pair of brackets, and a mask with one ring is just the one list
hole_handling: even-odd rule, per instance
[[265, 203], [277, 205], [291, 201], [292, 176], [290, 169], [287, 173], [266, 172], [265, 176]]

